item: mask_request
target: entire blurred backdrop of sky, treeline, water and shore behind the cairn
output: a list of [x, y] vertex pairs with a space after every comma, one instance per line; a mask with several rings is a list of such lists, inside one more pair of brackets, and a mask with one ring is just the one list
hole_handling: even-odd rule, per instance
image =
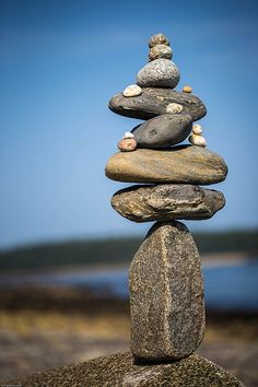
[[0, 1], [0, 379], [129, 349], [128, 268], [151, 224], [110, 207], [126, 185], [105, 164], [133, 124], [107, 104], [163, 32], [230, 169], [211, 187], [225, 208], [185, 222], [203, 268], [199, 353], [258, 386], [257, 8]]

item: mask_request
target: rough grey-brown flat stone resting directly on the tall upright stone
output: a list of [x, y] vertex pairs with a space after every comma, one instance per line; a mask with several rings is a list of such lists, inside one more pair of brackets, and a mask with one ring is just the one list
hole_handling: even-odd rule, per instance
[[203, 220], [225, 206], [222, 192], [187, 184], [132, 186], [117, 191], [112, 207], [133, 222]]

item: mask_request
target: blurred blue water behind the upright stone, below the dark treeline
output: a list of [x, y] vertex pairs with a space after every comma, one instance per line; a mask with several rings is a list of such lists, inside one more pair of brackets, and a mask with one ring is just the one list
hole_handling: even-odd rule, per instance
[[[206, 304], [218, 309], [258, 310], [258, 260], [203, 268]], [[61, 285], [91, 288], [96, 295], [128, 296], [128, 270], [55, 271], [0, 278], [2, 286]]]

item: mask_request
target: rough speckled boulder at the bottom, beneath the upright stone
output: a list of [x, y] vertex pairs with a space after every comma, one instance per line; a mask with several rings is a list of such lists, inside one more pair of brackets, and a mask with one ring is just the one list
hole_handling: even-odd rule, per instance
[[[171, 364], [137, 365], [129, 352], [115, 353], [33, 374], [12, 382], [12, 385], [19, 387], [245, 387], [234, 375], [198, 355]], [[7, 383], [0, 386], [7, 386]]]

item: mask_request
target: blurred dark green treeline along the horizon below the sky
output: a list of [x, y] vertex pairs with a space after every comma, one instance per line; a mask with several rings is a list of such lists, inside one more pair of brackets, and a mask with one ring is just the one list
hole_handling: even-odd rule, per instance
[[[258, 230], [194, 233], [200, 253], [258, 251]], [[0, 251], [0, 270], [128, 262], [142, 238], [81, 239]]]

